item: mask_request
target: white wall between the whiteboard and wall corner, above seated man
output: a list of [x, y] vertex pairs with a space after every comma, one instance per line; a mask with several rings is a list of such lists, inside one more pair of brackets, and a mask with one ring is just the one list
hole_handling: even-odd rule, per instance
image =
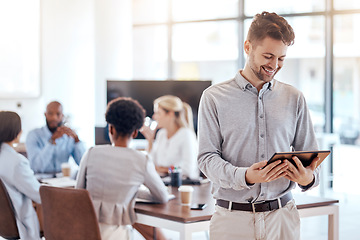
[[41, 7], [42, 105], [60, 101], [70, 126], [89, 142], [94, 125], [94, 3], [43, 0]]

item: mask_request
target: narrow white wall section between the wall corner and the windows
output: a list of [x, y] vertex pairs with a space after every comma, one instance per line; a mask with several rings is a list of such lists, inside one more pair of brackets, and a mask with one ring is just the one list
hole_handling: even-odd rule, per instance
[[105, 126], [106, 80], [132, 78], [131, 0], [95, 1], [95, 123]]

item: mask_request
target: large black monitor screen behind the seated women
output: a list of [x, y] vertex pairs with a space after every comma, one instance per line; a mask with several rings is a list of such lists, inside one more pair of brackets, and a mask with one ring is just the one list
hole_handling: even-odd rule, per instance
[[[151, 117], [154, 113], [153, 102], [163, 95], [174, 95], [187, 102], [194, 116], [194, 128], [197, 131], [197, 116], [202, 92], [211, 86], [206, 80], [132, 80], [107, 81], [107, 102], [117, 97], [131, 97], [139, 101], [145, 108], [146, 115]], [[139, 134], [138, 138], [144, 137]]]

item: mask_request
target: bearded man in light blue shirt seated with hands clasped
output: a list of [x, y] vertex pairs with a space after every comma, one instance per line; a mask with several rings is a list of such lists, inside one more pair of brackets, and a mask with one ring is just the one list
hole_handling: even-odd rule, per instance
[[35, 173], [61, 172], [61, 164], [72, 156], [77, 164], [85, 147], [77, 134], [63, 125], [63, 109], [59, 102], [50, 102], [45, 112], [46, 126], [30, 131], [26, 150]]

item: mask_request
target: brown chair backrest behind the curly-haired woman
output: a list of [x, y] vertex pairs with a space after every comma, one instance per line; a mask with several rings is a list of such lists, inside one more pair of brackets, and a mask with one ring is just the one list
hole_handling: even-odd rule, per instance
[[40, 197], [46, 240], [101, 240], [87, 190], [41, 186]]

